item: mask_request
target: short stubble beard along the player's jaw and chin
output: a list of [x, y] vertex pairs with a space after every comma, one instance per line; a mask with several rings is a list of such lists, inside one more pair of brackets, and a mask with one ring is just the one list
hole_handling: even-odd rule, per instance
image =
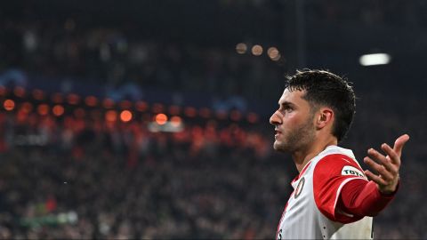
[[309, 116], [304, 124], [290, 132], [282, 142], [275, 141], [273, 148], [280, 152], [293, 153], [304, 148], [308, 148], [315, 137], [315, 128], [312, 123], [312, 116]]

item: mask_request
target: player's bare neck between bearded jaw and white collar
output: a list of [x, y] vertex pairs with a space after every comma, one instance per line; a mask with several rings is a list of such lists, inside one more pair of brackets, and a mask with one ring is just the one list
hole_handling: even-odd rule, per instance
[[313, 157], [318, 156], [323, 150], [329, 146], [337, 145], [336, 139], [321, 141], [318, 144], [311, 145], [311, 148], [305, 148], [292, 153], [292, 158], [298, 172], [301, 172], [306, 164], [310, 162]]

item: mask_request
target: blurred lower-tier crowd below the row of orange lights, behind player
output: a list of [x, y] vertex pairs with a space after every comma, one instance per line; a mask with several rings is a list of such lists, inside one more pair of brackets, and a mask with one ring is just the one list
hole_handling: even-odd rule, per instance
[[[415, 127], [427, 119], [408, 117], [422, 102], [361, 97], [343, 147], [362, 159], [399, 133], [412, 137], [399, 194], [375, 218], [375, 236], [425, 238], [419, 140], [427, 132]], [[205, 119], [150, 132], [149, 121], [13, 111], [0, 122], [3, 238], [273, 238], [296, 175], [290, 157], [272, 151], [267, 123]]]

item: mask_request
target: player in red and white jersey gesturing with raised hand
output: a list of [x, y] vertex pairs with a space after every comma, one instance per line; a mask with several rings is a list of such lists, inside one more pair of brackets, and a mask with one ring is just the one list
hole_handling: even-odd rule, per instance
[[[278, 223], [277, 239], [372, 239], [373, 216], [399, 187], [400, 156], [409, 136], [391, 148], [367, 151], [363, 171], [350, 149], [340, 148], [355, 112], [355, 94], [340, 76], [324, 70], [288, 77], [278, 110], [274, 149], [289, 152], [299, 175]], [[371, 180], [367, 180], [369, 177]]]

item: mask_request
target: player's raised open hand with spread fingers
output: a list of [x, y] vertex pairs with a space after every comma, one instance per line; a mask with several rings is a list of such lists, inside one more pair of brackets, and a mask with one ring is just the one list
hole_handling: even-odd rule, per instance
[[367, 155], [363, 160], [379, 175], [366, 170], [365, 174], [371, 180], [375, 181], [379, 190], [384, 194], [390, 194], [396, 191], [399, 183], [399, 169], [400, 169], [400, 156], [402, 156], [402, 149], [405, 143], [409, 140], [409, 135], [403, 134], [395, 142], [394, 147], [391, 148], [388, 144], [383, 143], [381, 148], [387, 156], [383, 156], [374, 148], [367, 150]]

